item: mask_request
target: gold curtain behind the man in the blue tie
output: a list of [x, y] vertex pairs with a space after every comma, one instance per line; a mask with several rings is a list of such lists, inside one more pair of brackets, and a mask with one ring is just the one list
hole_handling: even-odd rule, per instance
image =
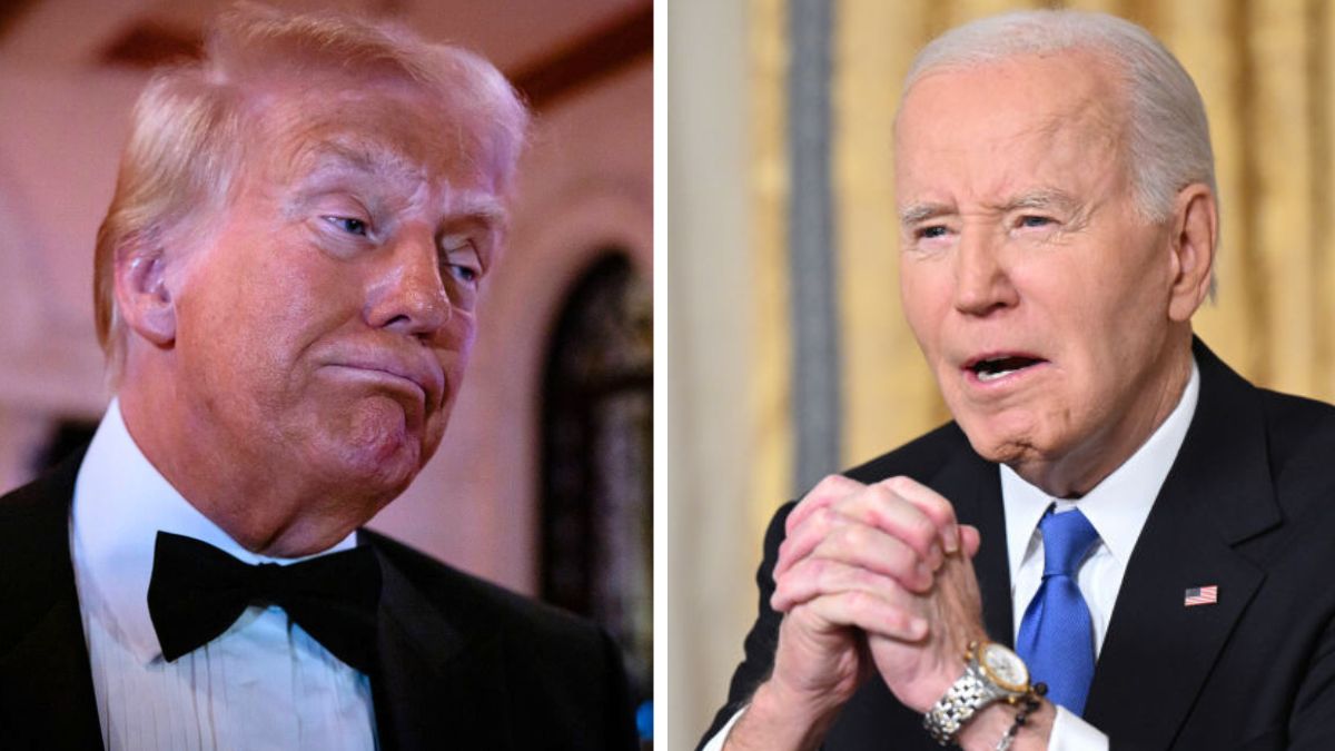
[[[1196, 331], [1254, 382], [1335, 397], [1335, 11], [1327, 0], [832, 0], [833, 186], [844, 461], [948, 418], [898, 302], [890, 126], [916, 51], [959, 23], [1025, 7], [1107, 11], [1145, 25], [1196, 80], [1222, 200], [1218, 302]], [[790, 492], [790, 347], [784, 208], [785, 1], [752, 0], [757, 295], [752, 496], [761, 525]], [[833, 468], [832, 468], [833, 469]], [[756, 548], [752, 548], [756, 549]]]

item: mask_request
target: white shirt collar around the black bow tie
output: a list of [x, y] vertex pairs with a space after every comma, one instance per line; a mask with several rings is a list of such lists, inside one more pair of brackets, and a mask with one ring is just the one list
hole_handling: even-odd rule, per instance
[[[112, 400], [75, 480], [69, 545], [85, 617], [95, 613], [144, 664], [162, 655], [148, 616], [158, 531], [203, 540], [248, 564], [304, 560], [256, 555], [232, 540], [148, 461]], [[355, 544], [354, 532], [316, 555]]]

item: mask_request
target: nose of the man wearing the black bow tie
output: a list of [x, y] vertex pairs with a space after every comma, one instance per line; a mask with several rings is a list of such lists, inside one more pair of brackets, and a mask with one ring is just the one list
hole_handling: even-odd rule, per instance
[[423, 341], [435, 338], [454, 310], [441, 279], [435, 238], [405, 233], [384, 250], [367, 297], [367, 322]]

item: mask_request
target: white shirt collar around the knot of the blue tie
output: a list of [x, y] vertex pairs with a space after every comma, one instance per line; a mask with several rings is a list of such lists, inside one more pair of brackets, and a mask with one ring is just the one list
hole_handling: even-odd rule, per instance
[[1193, 358], [1187, 388], [1183, 389], [1181, 398], [1168, 418], [1144, 445], [1136, 449], [1136, 453], [1131, 454], [1131, 458], [1079, 500], [1053, 498], [1003, 464], [1001, 502], [1005, 508], [1007, 552], [1012, 577], [1029, 555], [1039, 520], [1053, 502], [1059, 508], [1079, 508], [1099, 532], [1108, 551], [1125, 567], [1131, 560], [1131, 552], [1136, 548], [1145, 518], [1149, 517], [1149, 509], [1159, 496], [1159, 489], [1167, 480], [1168, 470], [1177, 458], [1177, 450], [1187, 437], [1199, 396], [1200, 370]]

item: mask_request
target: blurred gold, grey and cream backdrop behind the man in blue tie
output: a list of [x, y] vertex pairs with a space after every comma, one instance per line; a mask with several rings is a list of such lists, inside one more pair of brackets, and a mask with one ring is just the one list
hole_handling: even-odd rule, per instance
[[909, 61], [959, 23], [1061, 5], [1145, 25], [1204, 95], [1223, 226], [1196, 331], [1256, 384], [1335, 397], [1331, 3], [673, 3], [672, 748], [722, 704], [776, 508], [948, 420], [898, 303], [889, 146]]

